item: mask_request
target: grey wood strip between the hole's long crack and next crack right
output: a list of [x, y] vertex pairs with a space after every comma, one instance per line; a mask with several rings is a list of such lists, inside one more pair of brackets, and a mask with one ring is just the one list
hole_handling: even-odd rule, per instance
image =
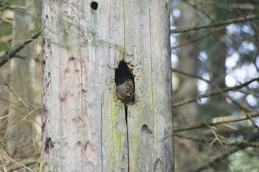
[[[154, 111], [149, 1], [125, 1], [125, 49], [132, 57], [135, 105], [128, 107], [129, 170], [153, 171]], [[153, 69], [155, 70], [155, 69]]]

